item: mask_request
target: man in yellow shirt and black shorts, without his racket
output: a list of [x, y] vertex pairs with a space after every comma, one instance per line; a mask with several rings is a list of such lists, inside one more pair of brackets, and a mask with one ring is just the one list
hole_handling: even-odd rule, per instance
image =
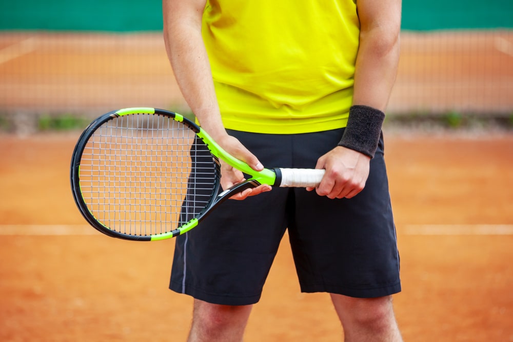
[[[400, 341], [381, 136], [400, 0], [164, 0], [163, 13], [177, 83], [220, 146], [255, 170], [326, 170], [316, 189], [245, 190], [177, 238], [170, 288], [195, 298], [189, 340], [242, 340], [288, 229], [301, 290], [330, 293], [345, 339]], [[221, 171], [225, 189], [244, 178]]]

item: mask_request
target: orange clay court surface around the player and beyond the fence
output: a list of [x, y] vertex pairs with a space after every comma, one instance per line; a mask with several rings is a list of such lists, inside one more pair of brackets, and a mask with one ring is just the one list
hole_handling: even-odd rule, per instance
[[[140, 37], [145, 52], [130, 56], [123, 52], [137, 42], [126, 37], [96, 52], [90, 47], [97, 42], [67, 37], [75, 46], [52, 53], [66, 41], [60, 37], [0, 39], [6, 113], [22, 113], [30, 122], [38, 112], [60, 108], [98, 116], [120, 107], [183, 106], [165, 53], [151, 39]], [[504, 112], [513, 108], [513, 56], [507, 53], [513, 50], [501, 40], [490, 42], [489, 51], [502, 44], [486, 75], [497, 69], [489, 85], [505, 92], [495, 101]], [[152, 46], [160, 52], [150, 53]], [[432, 73], [407, 72], [417, 70], [409, 58], [429, 56], [411, 51], [405, 50], [398, 78], [398, 88], [410, 94], [396, 92], [391, 100], [399, 112], [409, 106], [411, 92], [436, 88]], [[504, 69], [497, 63], [509, 64], [501, 64]], [[451, 70], [470, 70], [457, 82], [482, 72], [472, 65]], [[413, 83], [427, 88], [412, 90]], [[470, 98], [457, 103], [485, 106], [489, 99], [465, 94]], [[86, 225], [69, 186], [78, 135], [33, 133], [30, 125], [0, 135], [0, 340], [184, 341], [192, 301], [167, 289], [173, 240], [127, 242]], [[385, 127], [385, 144], [403, 281], [394, 305], [404, 339], [513, 341], [513, 135]], [[245, 340], [339, 341], [342, 334], [327, 295], [299, 292], [284, 239]]]

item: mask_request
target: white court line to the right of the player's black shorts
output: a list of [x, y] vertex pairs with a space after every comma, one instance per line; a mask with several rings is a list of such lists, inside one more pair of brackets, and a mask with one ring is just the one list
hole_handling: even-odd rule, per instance
[[513, 235], [513, 225], [404, 225], [406, 235]]

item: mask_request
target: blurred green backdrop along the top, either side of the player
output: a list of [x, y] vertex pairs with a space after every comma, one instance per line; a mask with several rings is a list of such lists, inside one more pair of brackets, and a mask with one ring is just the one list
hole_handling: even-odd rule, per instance
[[[406, 30], [513, 28], [513, 0], [403, 0], [402, 23]], [[4, 0], [0, 30], [162, 30], [162, 2]]]

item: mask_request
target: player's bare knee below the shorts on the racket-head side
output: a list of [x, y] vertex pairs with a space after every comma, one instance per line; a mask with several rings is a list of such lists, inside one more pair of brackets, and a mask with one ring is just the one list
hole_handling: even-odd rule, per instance
[[252, 307], [210, 304], [194, 299], [188, 342], [242, 341]]

